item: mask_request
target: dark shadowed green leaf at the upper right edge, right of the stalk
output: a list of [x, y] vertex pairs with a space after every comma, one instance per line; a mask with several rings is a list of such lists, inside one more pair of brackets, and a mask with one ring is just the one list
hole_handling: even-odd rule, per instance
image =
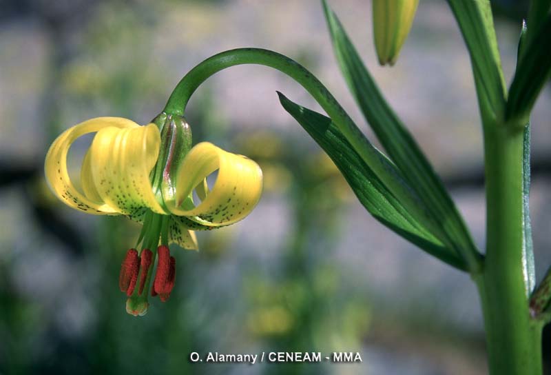
[[[551, 14], [532, 40], [527, 40], [509, 90], [506, 119], [514, 125], [528, 122], [532, 107], [551, 74]], [[528, 25], [528, 37], [530, 25]]]

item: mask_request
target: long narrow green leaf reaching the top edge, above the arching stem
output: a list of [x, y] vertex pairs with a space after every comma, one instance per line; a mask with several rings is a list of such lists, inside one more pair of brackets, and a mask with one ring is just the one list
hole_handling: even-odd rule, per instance
[[431, 231], [455, 249], [470, 270], [479, 267], [479, 253], [459, 212], [419, 146], [388, 106], [335, 14], [326, 17], [340, 67], [357, 103], [391, 160], [420, 197], [433, 221]]

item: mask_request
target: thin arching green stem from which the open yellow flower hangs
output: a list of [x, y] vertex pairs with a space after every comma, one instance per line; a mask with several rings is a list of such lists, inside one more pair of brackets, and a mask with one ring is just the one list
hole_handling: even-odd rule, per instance
[[[381, 156], [380, 152], [369, 143], [360, 129], [325, 86], [302, 65], [282, 54], [260, 48], [240, 48], [221, 52], [202, 61], [190, 70], [178, 83], [172, 92], [168, 103], [163, 110], [167, 114], [183, 116], [187, 102], [201, 83], [212, 75], [235, 65], [256, 64], [265, 65], [279, 70], [300, 83], [302, 87], [318, 101], [331, 120], [337, 125], [354, 150], [362, 157], [362, 160], [377, 174], [393, 194], [401, 201], [413, 216], [423, 218], [427, 229], [433, 232], [437, 238], [450, 248], [446, 233], [442, 232], [439, 223], [436, 223], [422, 205], [418, 196], [403, 181], [402, 176], [397, 175], [396, 168], [389, 165], [392, 162]], [[471, 257], [472, 258], [472, 257]], [[481, 270], [480, 259], [468, 259], [471, 272]]]

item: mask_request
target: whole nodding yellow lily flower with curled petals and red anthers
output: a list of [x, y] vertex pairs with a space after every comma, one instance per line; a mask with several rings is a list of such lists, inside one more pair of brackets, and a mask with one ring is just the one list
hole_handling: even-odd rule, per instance
[[[84, 134], [96, 135], [81, 167], [82, 190], [67, 172], [67, 152]], [[212, 190], [207, 176], [218, 170]], [[194, 230], [210, 230], [245, 218], [262, 192], [262, 171], [245, 156], [207, 142], [191, 148], [191, 130], [182, 116], [160, 114], [138, 125], [118, 117], [98, 117], [74, 125], [50, 146], [45, 176], [66, 205], [88, 214], [125, 215], [143, 223], [142, 251], [131, 249], [123, 261], [120, 287], [129, 296], [127, 312], [147, 312], [152, 264], [158, 266], [152, 295], [168, 298], [175, 259], [169, 243], [197, 250]], [[200, 202], [194, 201], [194, 194]], [[158, 247], [158, 249], [157, 249]]]

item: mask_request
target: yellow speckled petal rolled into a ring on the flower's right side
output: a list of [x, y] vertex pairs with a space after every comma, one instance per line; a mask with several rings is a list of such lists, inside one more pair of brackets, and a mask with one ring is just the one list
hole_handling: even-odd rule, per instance
[[[218, 177], [210, 192], [203, 185], [205, 199], [195, 207], [182, 207], [193, 189], [212, 172]], [[175, 201], [166, 201], [169, 210], [188, 216], [202, 225], [221, 226], [245, 218], [260, 200], [262, 171], [245, 156], [231, 154], [212, 143], [199, 143], [185, 157], [176, 177]]]

